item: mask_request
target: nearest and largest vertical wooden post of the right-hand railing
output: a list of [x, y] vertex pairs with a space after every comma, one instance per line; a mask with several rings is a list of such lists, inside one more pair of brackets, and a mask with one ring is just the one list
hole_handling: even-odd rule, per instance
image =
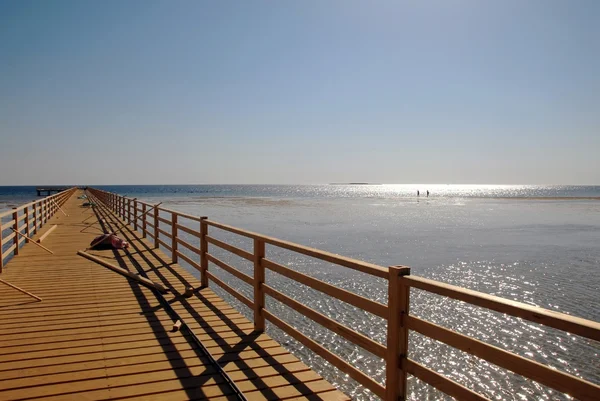
[[408, 315], [410, 290], [402, 276], [410, 274], [405, 266], [390, 266], [388, 282], [388, 333], [386, 358], [386, 401], [406, 400], [406, 371], [403, 360], [408, 357]]

